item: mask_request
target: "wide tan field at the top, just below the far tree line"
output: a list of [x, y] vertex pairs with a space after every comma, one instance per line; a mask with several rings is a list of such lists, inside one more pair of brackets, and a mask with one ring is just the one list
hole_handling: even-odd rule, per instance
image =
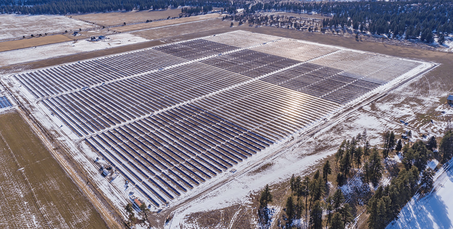
[[130, 11], [130, 12], [112, 12], [112, 13], [95, 13], [95, 14], [80, 14], [68, 15], [75, 19], [88, 21], [91, 23], [101, 24], [105, 26], [117, 24], [130, 24], [136, 22], [143, 22], [146, 20], [164, 19], [167, 17], [178, 17], [181, 9], [169, 10], [144, 10], [144, 11]]

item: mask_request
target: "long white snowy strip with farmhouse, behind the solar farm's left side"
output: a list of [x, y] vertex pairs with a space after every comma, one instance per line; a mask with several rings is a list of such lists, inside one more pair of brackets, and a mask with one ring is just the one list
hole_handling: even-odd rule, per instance
[[76, 43], [70, 41], [3, 52], [0, 55], [0, 66], [38, 61], [148, 41], [148, 39], [132, 34], [115, 34], [107, 36], [107, 38], [108, 39], [96, 42], [84, 39], [79, 40]]

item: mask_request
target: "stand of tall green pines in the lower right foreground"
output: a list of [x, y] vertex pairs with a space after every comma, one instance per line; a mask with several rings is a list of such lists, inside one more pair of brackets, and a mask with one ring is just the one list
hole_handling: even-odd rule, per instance
[[[381, 139], [379, 146], [371, 146], [364, 131], [344, 140], [334, 157], [313, 174], [293, 174], [283, 198], [286, 201], [273, 203], [284, 208], [279, 226], [344, 229], [364, 212], [369, 229], [383, 229], [412, 196], [426, 195], [433, 189], [435, 170], [452, 158], [452, 130], [439, 144], [434, 136], [427, 141], [397, 141], [390, 131], [382, 133]], [[401, 162], [391, 159], [396, 155]], [[440, 161], [434, 170], [427, 166], [432, 159]], [[383, 182], [385, 178], [390, 182]], [[258, 201], [260, 224], [266, 228], [271, 220], [268, 205], [273, 202], [269, 185]], [[327, 214], [323, 216], [323, 212]]]

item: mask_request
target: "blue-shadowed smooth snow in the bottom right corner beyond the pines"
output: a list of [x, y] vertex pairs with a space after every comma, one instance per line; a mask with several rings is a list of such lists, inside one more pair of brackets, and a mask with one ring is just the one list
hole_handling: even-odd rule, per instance
[[452, 166], [439, 169], [434, 179], [434, 190], [421, 198], [415, 195], [387, 229], [453, 228]]

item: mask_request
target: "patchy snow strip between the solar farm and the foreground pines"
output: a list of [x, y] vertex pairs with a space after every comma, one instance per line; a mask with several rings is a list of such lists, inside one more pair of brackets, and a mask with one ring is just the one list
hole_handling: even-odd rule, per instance
[[[183, 205], [174, 212], [173, 219], [165, 228], [178, 229], [180, 228], [179, 225], [187, 225], [186, 217], [191, 213], [221, 209], [237, 203], [245, 205], [251, 201], [249, 195], [262, 190], [266, 184], [275, 184], [287, 180], [292, 174], [305, 175], [313, 172], [311, 168], [326, 156], [335, 153], [343, 139], [356, 136], [366, 129], [367, 135], [373, 136], [373, 138], [370, 138], [370, 143], [372, 145], [377, 144], [381, 141], [379, 133], [386, 128], [388, 128], [388, 125], [385, 120], [361, 112], [339, 119], [312, 137], [303, 138], [298, 144], [287, 147], [284, 151], [267, 159], [247, 173], [236, 176], [221, 187], [200, 196], [188, 205]], [[324, 148], [318, 149], [319, 146]], [[316, 153], [313, 154], [313, 152]], [[244, 164], [251, 164], [259, 160], [258, 156], [254, 156], [247, 159]], [[265, 170], [260, 170], [260, 166], [267, 163], [272, 163], [272, 165]], [[240, 169], [238, 168], [237, 171], [240, 171]], [[361, 182], [360, 179], [355, 181]], [[196, 225], [193, 226], [196, 227]]]

